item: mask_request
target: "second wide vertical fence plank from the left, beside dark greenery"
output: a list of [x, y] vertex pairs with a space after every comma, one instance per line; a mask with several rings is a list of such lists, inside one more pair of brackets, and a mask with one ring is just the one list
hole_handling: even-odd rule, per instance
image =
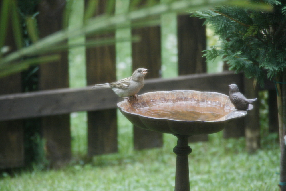
[[[65, 0], [43, 0], [39, 4], [39, 34], [43, 38], [62, 29]], [[69, 86], [67, 52], [61, 59], [43, 64], [39, 69], [39, 89], [66, 88]], [[71, 134], [69, 114], [42, 117], [43, 137], [46, 139], [47, 157], [55, 168], [68, 162], [71, 157]]]

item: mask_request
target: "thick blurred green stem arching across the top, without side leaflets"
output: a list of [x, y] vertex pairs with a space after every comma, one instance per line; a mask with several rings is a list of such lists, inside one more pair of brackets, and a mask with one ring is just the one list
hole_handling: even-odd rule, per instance
[[[6, 0], [8, 1], [8, 0]], [[212, 1], [174, 1], [170, 4], [158, 4], [152, 7], [143, 8], [136, 11], [131, 11], [127, 14], [118, 14], [118, 15], [109, 15], [109, 16], [97, 16], [92, 18], [86, 22], [86, 25], [73, 28], [72, 30], [61, 30], [54, 34], [51, 34], [36, 43], [30, 45], [29, 47], [22, 48], [19, 51], [13, 52], [7, 56], [5, 56], [1, 62], [0, 67], [3, 64], [9, 64], [15, 60], [19, 60], [20, 58], [28, 55], [33, 55], [40, 50], [47, 49], [49, 47], [53, 47], [58, 45], [59, 43], [67, 40], [68, 38], [88, 35], [92, 33], [99, 33], [106, 31], [107, 28], [110, 30], [115, 30], [118, 26], [124, 25], [124, 23], [128, 23], [128, 21], [136, 22], [140, 20], [148, 20], [150, 18], [154, 18], [156, 16], [160, 16], [163, 13], [170, 12], [184, 12], [190, 10], [199, 10], [205, 9], [208, 7], [213, 7], [215, 5], [221, 4], [229, 4], [229, 3], [240, 3], [241, 6], [244, 5], [253, 5], [250, 3], [246, 3], [246, 1], [236, 0], [236, 1], [226, 1], [226, 0], [212, 0]], [[256, 4], [257, 5], [257, 4]], [[270, 9], [270, 6], [267, 5], [257, 5], [257, 7], [266, 10]], [[270, 7], [270, 8], [269, 8]], [[146, 22], [148, 23], [148, 22]]]

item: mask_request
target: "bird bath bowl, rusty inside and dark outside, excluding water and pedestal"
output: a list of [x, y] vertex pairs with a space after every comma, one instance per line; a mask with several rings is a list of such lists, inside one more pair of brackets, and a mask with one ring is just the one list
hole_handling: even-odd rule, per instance
[[[219, 106], [223, 106], [228, 111], [224, 114], [225, 116], [214, 121], [184, 121], [162, 117], [150, 117], [134, 113], [136, 108], [140, 109], [142, 107], [148, 107], [148, 104], [155, 105], [156, 103], [175, 103], [179, 101], [205, 104], [205, 107], [210, 108], [212, 105], [206, 105], [207, 103], [215, 104], [216, 106], [214, 107], [218, 108]], [[137, 127], [160, 133], [172, 133], [175, 135], [186, 136], [217, 133], [221, 131], [231, 119], [243, 117], [247, 114], [246, 111], [234, 109], [229, 97], [225, 94], [217, 92], [199, 92], [194, 90], [149, 92], [138, 95], [137, 101], [136, 99], [132, 99], [131, 101], [124, 100], [119, 102], [117, 106], [121, 113]], [[221, 109], [219, 108], [219, 110]]]

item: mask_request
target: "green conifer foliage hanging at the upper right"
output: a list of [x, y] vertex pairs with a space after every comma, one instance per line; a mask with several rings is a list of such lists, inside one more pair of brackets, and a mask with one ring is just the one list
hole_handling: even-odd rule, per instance
[[261, 2], [270, 4], [273, 11], [229, 5], [197, 11], [193, 16], [204, 18], [205, 24], [213, 25], [222, 42], [205, 51], [207, 60], [219, 56], [230, 70], [242, 71], [263, 85], [265, 78], [273, 80], [286, 70], [286, 2]]

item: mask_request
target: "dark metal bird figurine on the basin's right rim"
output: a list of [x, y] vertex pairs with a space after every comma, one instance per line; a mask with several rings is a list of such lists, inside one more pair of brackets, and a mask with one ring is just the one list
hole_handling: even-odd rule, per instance
[[244, 95], [239, 92], [236, 84], [229, 85], [229, 99], [231, 103], [235, 106], [235, 109], [239, 110], [249, 110], [248, 105], [255, 102], [257, 98], [247, 99]]

